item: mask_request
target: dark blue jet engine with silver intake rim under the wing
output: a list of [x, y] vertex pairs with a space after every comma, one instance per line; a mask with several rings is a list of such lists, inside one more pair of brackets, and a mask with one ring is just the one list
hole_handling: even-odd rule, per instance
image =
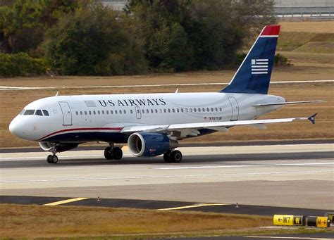
[[154, 157], [178, 147], [178, 141], [171, 140], [166, 134], [135, 132], [128, 139], [129, 151], [136, 157]]

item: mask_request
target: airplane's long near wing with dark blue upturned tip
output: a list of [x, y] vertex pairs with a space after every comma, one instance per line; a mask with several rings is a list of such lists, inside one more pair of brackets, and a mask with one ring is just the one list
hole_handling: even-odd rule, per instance
[[[317, 113], [316, 113], [317, 114]], [[183, 132], [183, 137], [197, 136], [199, 129], [210, 129], [216, 131], [228, 132], [228, 127], [235, 127], [240, 125], [249, 125], [252, 127], [265, 128], [268, 123], [277, 122], [292, 122], [295, 120], [309, 120], [315, 123], [316, 114], [309, 118], [278, 118], [278, 119], [264, 119], [264, 120], [241, 120], [241, 121], [225, 121], [225, 122], [196, 122], [196, 123], [182, 123], [173, 125], [147, 125], [147, 126], [128, 126], [124, 127], [120, 132]]]

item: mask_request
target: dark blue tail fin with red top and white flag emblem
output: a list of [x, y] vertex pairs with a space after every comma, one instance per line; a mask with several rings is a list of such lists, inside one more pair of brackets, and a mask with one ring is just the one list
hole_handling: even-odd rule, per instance
[[259, 34], [228, 87], [221, 92], [268, 94], [280, 25], [267, 25]]

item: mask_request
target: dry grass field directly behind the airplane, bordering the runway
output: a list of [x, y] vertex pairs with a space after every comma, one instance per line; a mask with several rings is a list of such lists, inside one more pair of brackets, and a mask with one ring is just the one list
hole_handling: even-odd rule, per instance
[[[206, 86], [205, 91], [216, 91], [217, 86]], [[181, 87], [180, 92], [203, 91], [203, 87]], [[138, 89], [63, 89], [61, 94], [117, 94], [173, 92], [175, 87], [142, 87]], [[303, 117], [318, 113], [316, 125], [309, 122], [292, 122], [286, 124], [268, 125], [268, 130], [256, 130], [250, 127], [235, 127], [228, 133], [209, 134], [204, 137], [187, 139], [185, 141], [244, 141], [265, 139], [333, 139], [334, 138], [334, 84], [283, 84], [272, 85], [270, 94], [284, 96], [287, 101], [326, 100], [326, 103], [285, 106], [283, 110], [267, 115], [266, 118]], [[11, 119], [27, 103], [45, 96], [52, 96], [53, 90], [31, 91], [1, 91], [0, 102], [2, 112], [0, 116], [0, 146], [38, 146], [37, 143], [24, 141], [13, 137], [8, 131]]]

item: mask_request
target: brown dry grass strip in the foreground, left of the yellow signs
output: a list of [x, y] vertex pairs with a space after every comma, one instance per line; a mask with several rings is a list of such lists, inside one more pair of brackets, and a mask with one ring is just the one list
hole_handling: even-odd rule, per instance
[[0, 205], [0, 237], [180, 234], [252, 229], [271, 217], [129, 208]]

